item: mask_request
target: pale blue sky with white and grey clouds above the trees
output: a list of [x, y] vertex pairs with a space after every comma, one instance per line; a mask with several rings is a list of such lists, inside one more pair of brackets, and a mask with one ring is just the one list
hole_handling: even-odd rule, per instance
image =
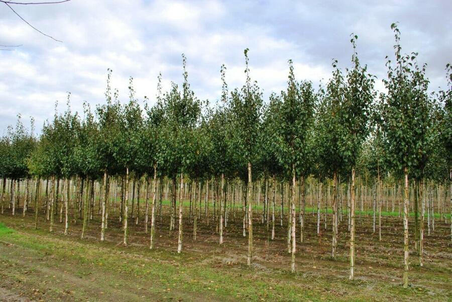
[[[26, 2], [22, 0], [21, 2]], [[219, 69], [227, 66], [230, 88], [245, 81], [243, 50], [249, 48], [251, 77], [264, 96], [280, 91], [287, 60], [297, 79], [315, 85], [331, 73], [331, 59], [350, 66], [350, 34], [359, 36], [358, 54], [383, 88], [385, 56], [393, 54], [391, 23], [398, 21], [402, 51], [419, 52], [427, 63], [431, 89], [445, 87], [445, 64], [452, 61], [452, 2], [437, 1], [144, 1], [72, 0], [58, 5], [11, 5], [30, 28], [0, 3], [0, 44], [23, 46], [0, 51], [0, 131], [33, 116], [39, 130], [65, 110], [67, 91], [73, 110], [84, 101], [103, 103], [107, 68], [112, 86], [128, 99], [129, 76], [137, 97], [156, 94], [182, 81], [187, 56], [189, 81], [198, 98], [215, 102]], [[4, 47], [0, 47], [4, 49]], [[14, 48], [13, 48], [14, 49]], [[27, 124], [27, 122], [25, 121]]]

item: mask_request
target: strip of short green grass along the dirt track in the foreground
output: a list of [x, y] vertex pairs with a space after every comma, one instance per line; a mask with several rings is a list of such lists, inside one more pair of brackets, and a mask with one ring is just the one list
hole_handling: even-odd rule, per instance
[[[140, 254], [143, 254], [143, 251], [133, 248], [129, 249], [128, 254], [124, 254], [123, 249], [105, 249], [99, 247], [100, 244], [86, 244], [81, 241], [74, 243], [50, 237], [43, 240], [41, 235], [15, 233], [4, 224], [0, 225], [0, 230], [2, 241], [14, 243], [38, 255], [53, 255], [52, 265], [65, 261], [66, 270], [69, 271], [71, 264], [76, 264], [74, 274], [79, 277], [90, 275], [90, 271], [94, 269], [110, 275], [128, 275], [135, 280], [151, 280], [153, 286], [148, 290], [154, 294], [162, 294], [169, 288], [168, 293], [177, 290], [193, 295], [202, 294], [206, 300], [209, 300], [209, 296], [219, 300], [234, 298], [247, 301], [287, 301], [302, 297], [321, 300], [320, 295], [312, 290], [297, 290], [291, 285], [292, 282], [275, 282], [268, 278], [270, 276], [255, 279], [252, 277], [252, 270], [239, 269], [240, 273], [237, 273], [237, 270], [228, 272], [201, 265], [198, 260], [202, 260], [202, 256], [189, 252], [175, 254], [168, 251], [147, 251], [147, 257], [142, 258]], [[286, 277], [283, 276], [281, 280], [284, 279]]]

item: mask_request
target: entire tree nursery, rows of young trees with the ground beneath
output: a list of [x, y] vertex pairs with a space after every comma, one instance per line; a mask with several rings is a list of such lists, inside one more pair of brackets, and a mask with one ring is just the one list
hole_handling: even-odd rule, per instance
[[264, 99], [245, 48], [216, 102], [182, 54], [155, 97], [130, 76], [125, 99], [108, 68], [104, 102], [73, 111], [68, 92], [38, 134], [18, 114], [0, 136], [0, 299], [452, 301], [452, 65], [431, 90], [390, 28], [381, 79], [352, 33], [318, 89], [288, 58]]

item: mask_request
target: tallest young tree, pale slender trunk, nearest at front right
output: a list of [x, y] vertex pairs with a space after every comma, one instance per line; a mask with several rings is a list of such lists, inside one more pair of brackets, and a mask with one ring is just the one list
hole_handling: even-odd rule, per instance
[[395, 66], [388, 59], [388, 78], [384, 84], [388, 90], [386, 95], [381, 94], [383, 131], [386, 139], [389, 166], [397, 175], [402, 174], [405, 180], [404, 199], [404, 273], [403, 287], [408, 287], [408, 176], [416, 175], [419, 171], [418, 133], [425, 123], [424, 116], [417, 110], [424, 106], [427, 82], [423, 79], [425, 66], [419, 70], [417, 67], [417, 53], [401, 54], [400, 31], [397, 24], [391, 29], [395, 36]]

